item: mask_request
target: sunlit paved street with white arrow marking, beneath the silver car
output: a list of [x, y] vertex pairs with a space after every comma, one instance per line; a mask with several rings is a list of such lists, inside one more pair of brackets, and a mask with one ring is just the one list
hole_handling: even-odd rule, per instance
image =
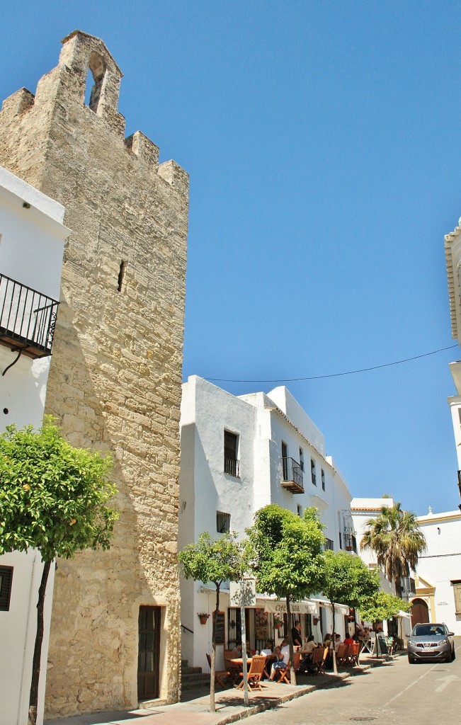
[[350, 677], [333, 689], [254, 715], [252, 725], [433, 725], [460, 718], [460, 658], [409, 665], [406, 657]]

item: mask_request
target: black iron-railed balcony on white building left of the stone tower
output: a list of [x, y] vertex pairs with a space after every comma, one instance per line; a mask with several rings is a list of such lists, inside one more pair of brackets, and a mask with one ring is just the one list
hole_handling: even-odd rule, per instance
[[0, 344], [33, 360], [51, 355], [58, 305], [0, 274]]

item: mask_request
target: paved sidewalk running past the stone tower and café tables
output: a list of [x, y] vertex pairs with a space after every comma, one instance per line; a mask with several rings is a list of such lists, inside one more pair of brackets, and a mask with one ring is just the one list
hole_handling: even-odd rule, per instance
[[[398, 654], [394, 655], [394, 657], [396, 656]], [[360, 667], [348, 668], [339, 672], [337, 676], [331, 672], [325, 673], [325, 676], [316, 677], [301, 674], [297, 676], [299, 684], [296, 687], [277, 682], [263, 682], [262, 692], [249, 692], [248, 708], [244, 705], [244, 695], [241, 690], [226, 689], [216, 693], [215, 713], [209, 712], [208, 693], [174, 705], [161, 705], [151, 709], [128, 712], [76, 715], [46, 720], [44, 725], [177, 725], [178, 722], [181, 725], [227, 725], [269, 708], [276, 708], [288, 700], [307, 695], [308, 692], [313, 692], [315, 689], [334, 687], [347, 677], [358, 675], [380, 663], [383, 663], [383, 660], [367, 656], [361, 660]]]

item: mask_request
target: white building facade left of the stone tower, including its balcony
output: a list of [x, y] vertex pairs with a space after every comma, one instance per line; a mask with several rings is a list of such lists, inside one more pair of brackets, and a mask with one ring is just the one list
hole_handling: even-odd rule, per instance
[[[0, 428], [43, 420], [57, 315], [62, 254], [70, 230], [65, 209], [0, 167]], [[36, 550], [0, 557], [0, 725], [27, 721], [38, 587], [43, 564]], [[45, 600], [38, 723], [43, 721], [46, 656], [53, 593]]]

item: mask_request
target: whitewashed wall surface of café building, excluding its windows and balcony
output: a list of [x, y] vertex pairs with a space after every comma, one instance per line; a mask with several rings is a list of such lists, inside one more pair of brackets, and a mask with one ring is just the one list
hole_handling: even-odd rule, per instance
[[[316, 506], [327, 526], [325, 534], [333, 540], [335, 549], [339, 549], [339, 532], [343, 531], [345, 522], [352, 524], [352, 497], [331, 457], [325, 457], [323, 435], [286, 388], [277, 388], [269, 394], [258, 392], [235, 397], [202, 378], [191, 376], [183, 384], [180, 430], [179, 549], [196, 541], [202, 531], [209, 531], [212, 537], [218, 535], [217, 510], [230, 513], [231, 530], [243, 536], [246, 527], [252, 526], [254, 513], [270, 503], [294, 513], [298, 505], [302, 510]], [[238, 435], [238, 479], [223, 473], [224, 430]], [[311, 439], [315, 439], [315, 445]], [[281, 486], [282, 441], [288, 445], [288, 456], [296, 462], [299, 462], [299, 447], [304, 451], [302, 494], [292, 494]], [[316, 463], [317, 486], [311, 481], [311, 457]], [[227, 593], [221, 598], [220, 608], [226, 614], [227, 631]], [[204, 671], [207, 671], [205, 655], [211, 648], [211, 618], [202, 625], [197, 614], [202, 611], [212, 614], [214, 609], [214, 592], [199, 582], [181, 580], [182, 656], [190, 664], [202, 666]], [[342, 616], [337, 619], [337, 629], [344, 634]], [[223, 647], [217, 648], [218, 667], [223, 664], [222, 650]]]

